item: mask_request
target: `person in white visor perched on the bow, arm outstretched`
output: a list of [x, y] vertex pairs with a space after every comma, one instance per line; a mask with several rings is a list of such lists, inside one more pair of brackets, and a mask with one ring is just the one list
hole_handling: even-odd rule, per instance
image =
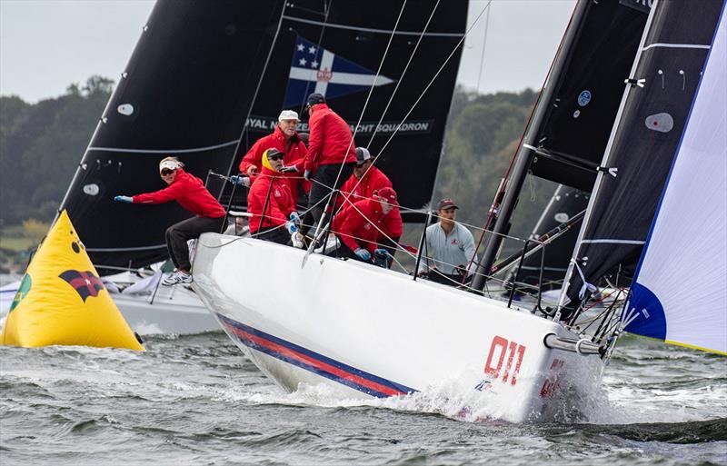
[[199, 238], [207, 232], [222, 231], [224, 208], [204, 187], [202, 180], [184, 172], [184, 164], [176, 157], [166, 157], [159, 163], [159, 174], [168, 186], [154, 193], [138, 194], [132, 197], [115, 196], [121, 203], [168, 203], [176, 201], [196, 216], [166, 229], [166, 248], [174, 262], [176, 272], [164, 278], [165, 285], [192, 283], [187, 241]]

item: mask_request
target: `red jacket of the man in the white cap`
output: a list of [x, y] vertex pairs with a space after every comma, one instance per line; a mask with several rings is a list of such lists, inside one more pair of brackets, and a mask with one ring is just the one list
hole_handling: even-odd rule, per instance
[[[290, 191], [293, 194], [293, 199], [298, 198], [299, 185], [303, 188], [305, 193], [310, 192], [311, 183], [306, 182], [303, 179], [304, 159], [308, 150], [305, 148], [304, 142], [297, 133], [294, 134], [291, 138], [290, 144], [288, 144], [288, 142], [285, 141], [285, 135], [283, 134], [283, 131], [281, 131], [280, 126], [275, 126], [275, 131], [273, 133], [258, 139], [255, 144], [250, 147], [250, 150], [247, 151], [247, 154], [244, 154], [243, 161], [240, 162], [240, 173], [247, 174], [247, 169], [250, 165], [255, 165], [258, 171], [261, 170], [263, 168], [263, 153], [271, 147], [274, 147], [285, 154], [283, 157], [283, 164], [285, 166], [295, 165], [298, 169], [297, 173], [292, 172], [284, 174], [284, 176], [290, 178], [288, 182], [290, 184]], [[256, 175], [251, 176], [250, 181], [254, 182], [256, 177]]]

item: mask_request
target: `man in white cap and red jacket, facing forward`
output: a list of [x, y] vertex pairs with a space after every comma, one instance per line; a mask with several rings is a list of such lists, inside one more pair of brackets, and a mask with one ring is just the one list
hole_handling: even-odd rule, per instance
[[[275, 131], [258, 139], [247, 151], [247, 154], [244, 155], [243, 161], [240, 162], [240, 173], [249, 176], [250, 181], [254, 182], [263, 166], [263, 153], [271, 147], [282, 152], [284, 154], [284, 167], [281, 171], [288, 176], [288, 184], [294, 201], [298, 199], [299, 186], [303, 188], [305, 193], [311, 190], [311, 183], [302, 178], [307, 149], [303, 138], [298, 134], [298, 123], [298, 114], [296, 112], [293, 110], [282, 111], [278, 116]], [[233, 183], [242, 182], [242, 177], [233, 178], [231, 179]]]

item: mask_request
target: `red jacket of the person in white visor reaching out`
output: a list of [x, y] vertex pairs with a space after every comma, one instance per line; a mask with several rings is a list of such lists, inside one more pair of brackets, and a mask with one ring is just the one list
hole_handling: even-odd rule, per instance
[[204, 187], [202, 180], [188, 174], [183, 169], [176, 169], [174, 182], [154, 193], [132, 196], [134, 203], [168, 203], [176, 201], [198, 217], [220, 218], [224, 216], [224, 207], [214, 199]]

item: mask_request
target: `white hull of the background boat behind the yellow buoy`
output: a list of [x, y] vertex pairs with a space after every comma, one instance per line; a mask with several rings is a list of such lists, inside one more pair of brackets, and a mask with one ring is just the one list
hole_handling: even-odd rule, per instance
[[[141, 280], [131, 273], [120, 273], [106, 278], [115, 283], [134, 283]], [[0, 316], [4, 317], [10, 309], [19, 285], [20, 282], [9, 283], [0, 288]], [[220, 326], [197, 295], [180, 285], [159, 286], [155, 294], [112, 293], [111, 297], [132, 330], [141, 335], [220, 330]]]

